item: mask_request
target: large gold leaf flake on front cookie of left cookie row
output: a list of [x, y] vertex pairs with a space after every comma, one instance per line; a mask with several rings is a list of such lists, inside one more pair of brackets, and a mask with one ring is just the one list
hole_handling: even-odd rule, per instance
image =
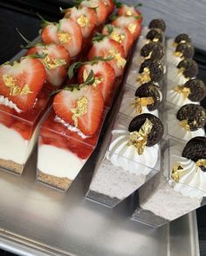
[[127, 146], [135, 146], [137, 153], [142, 154], [148, 142], [148, 135], [152, 131], [153, 123], [147, 118], [139, 132], [130, 132]]

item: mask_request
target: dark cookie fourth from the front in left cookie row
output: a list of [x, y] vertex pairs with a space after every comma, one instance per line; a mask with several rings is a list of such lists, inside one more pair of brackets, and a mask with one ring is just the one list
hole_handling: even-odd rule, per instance
[[159, 42], [150, 42], [141, 48], [141, 56], [150, 60], [161, 60], [164, 48]]

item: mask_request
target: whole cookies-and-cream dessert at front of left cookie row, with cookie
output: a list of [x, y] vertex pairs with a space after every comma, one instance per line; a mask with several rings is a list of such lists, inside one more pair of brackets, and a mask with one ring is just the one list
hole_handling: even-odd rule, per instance
[[160, 169], [163, 125], [152, 114], [131, 118], [118, 115], [107, 133], [86, 197], [114, 207]]

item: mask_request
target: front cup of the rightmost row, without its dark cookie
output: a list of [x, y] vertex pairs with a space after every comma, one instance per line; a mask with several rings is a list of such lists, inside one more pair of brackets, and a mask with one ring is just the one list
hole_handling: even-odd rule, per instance
[[138, 191], [134, 220], [159, 227], [205, 204], [206, 175], [195, 161], [182, 157], [185, 145], [168, 140], [161, 172]]

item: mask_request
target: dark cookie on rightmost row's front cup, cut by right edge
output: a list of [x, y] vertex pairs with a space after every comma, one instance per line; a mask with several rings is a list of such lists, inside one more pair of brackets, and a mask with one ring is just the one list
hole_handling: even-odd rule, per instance
[[[182, 157], [186, 157], [190, 160], [197, 161], [206, 159], [206, 137], [198, 136], [190, 139], [182, 151]], [[201, 166], [205, 172], [206, 168]]]

